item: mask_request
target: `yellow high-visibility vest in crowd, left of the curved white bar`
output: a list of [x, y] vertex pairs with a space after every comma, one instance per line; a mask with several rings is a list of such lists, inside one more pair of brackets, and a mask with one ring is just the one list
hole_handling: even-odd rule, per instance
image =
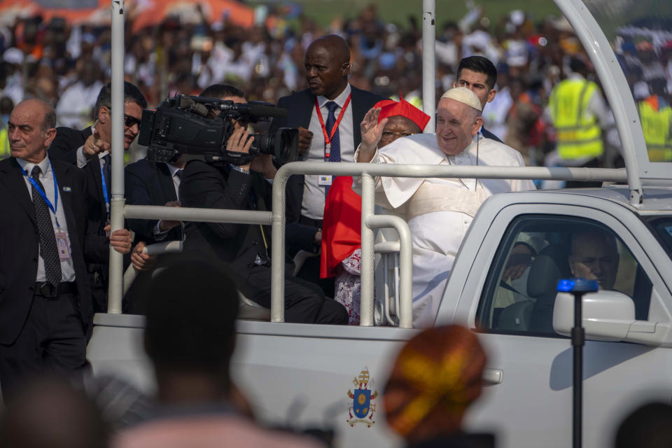
[[566, 79], [556, 85], [549, 98], [556, 129], [556, 148], [561, 159], [593, 158], [602, 155], [602, 130], [597, 117], [588, 110], [596, 83]]

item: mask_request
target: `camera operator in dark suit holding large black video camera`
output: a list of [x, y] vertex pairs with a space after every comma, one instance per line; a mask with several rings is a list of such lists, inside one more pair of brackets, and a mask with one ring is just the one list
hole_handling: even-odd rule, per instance
[[[245, 102], [244, 92], [227, 85], [213, 85], [202, 97]], [[254, 137], [246, 123], [235, 123], [227, 150], [249, 153]], [[275, 168], [270, 155], [258, 155], [248, 165], [214, 165], [191, 160], [184, 169], [181, 196], [184, 207], [234, 210], [271, 208], [271, 188]], [[200, 258], [223, 262], [237, 288], [249, 300], [270, 308], [270, 231], [262, 225], [233, 223], [187, 223], [184, 251]], [[286, 269], [288, 272], [288, 269]], [[325, 298], [320, 288], [286, 275], [285, 320], [295, 323], [346, 324], [344, 307]]]

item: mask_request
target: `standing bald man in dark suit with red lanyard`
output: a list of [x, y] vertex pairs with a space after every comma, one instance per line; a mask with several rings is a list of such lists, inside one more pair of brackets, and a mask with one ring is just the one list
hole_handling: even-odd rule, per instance
[[[287, 118], [274, 118], [269, 132], [298, 127], [302, 160], [354, 162], [362, 139], [359, 125], [367, 111], [384, 98], [350, 85], [350, 48], [340, 36], [331, 34], [313, 41], [306, 50], [305, 68], [309, 88], [279, 99], [278, 107], [289, 113]], [[302, 239], [288, 245], [289, 253], [319, 247], [324, 201], [332, 181], [329, 175], [291, 176], [288, 180], [287, 189], [293, 195], [292, 202], [300, 207], [300, 223], [305, 226]], [[318, 281], [318, 258], [309, 258], [300, 276]], [[332, 295], [333, 281], [330, 283], [323, 289]]]

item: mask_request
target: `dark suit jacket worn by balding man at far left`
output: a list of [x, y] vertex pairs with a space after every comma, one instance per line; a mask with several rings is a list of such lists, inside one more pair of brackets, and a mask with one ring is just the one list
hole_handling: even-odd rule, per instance
[[[84, 261], [88, 242], [83, 172], [52, 160], [63, 203], [75, 269], [75, 304], [85, 331], [91, 323], [91, 290]], [[40, 236], [35, 209], [21, 167], [14, 158], [0, 161], [0, 344], [12, 344], [32, 306]]]

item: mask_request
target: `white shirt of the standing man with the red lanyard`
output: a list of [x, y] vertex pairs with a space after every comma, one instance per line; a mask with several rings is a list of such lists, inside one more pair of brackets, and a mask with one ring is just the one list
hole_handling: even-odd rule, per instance
[[[338, 118], [341, 109], [344, 106], [346, 99], [351, 92], [350, 85], [346, 85], [345, 89], [341, 94], [338, 95], [335, 99], [327, 99], [325, 97], [317, 97], [317, 102], [320, 105], [320, 111], [322, 113], [322, 118], [324, 124], [327, 124], [327, 117], [329, 116], [329, 110], [326, 108], [325, 104], [327, 102], [333, 101], [338, 104], [337, 109], [334, 111], [336, 118]], [[310, 142], [310, 147], [308, 149], [308, 157], [304, 158], [309, 162], [324, 162], [324, 134], [322, 132], [322, 126], [320, 125], [320, 120], [317, 118], [317, 111], [313, 106], [313, 113], [310, 117], [310, 125], [308, 128], [313, 133], [313, 139]], [[331, 130], [327, 130], [330, 133]], [[338, 126], [338, 139], [339, 146], [341, 150], [341, 160], [342, 162], [353, 162], [355, 156], [355, 148], [353, 146], [354, 139], [353, 123], [352, 123], [352, 100], [348, 104], [348, 109], [346, 109], [343, 114], [341, 123]], [[301, 204], [301, 214], [307, 218], [312, 219], [322, 219], [324, 214], [324, 186], [318, 185], [318, 175], [311, 174], [305, 176], [304, 181], [304, 191], [303, 191], [303, 202]]]

